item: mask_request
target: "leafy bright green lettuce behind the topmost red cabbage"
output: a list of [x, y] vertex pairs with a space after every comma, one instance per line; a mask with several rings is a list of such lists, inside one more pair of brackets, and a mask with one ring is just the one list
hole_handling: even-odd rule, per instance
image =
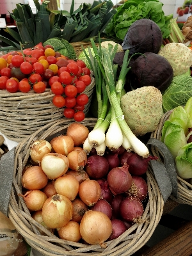
[[116, 8], [117, 12], [112, 17], [108, 26], [106, 26], [104, 32], [111, 38], [123, 41], [133, 22], [139, 19], [150, 19], [159, 26], [163, 38], [167, 38], [170, 35], [169, 26], [173, 15], [165, 16], [162, 6], [163, 3], [158, 0], [128, 0]]

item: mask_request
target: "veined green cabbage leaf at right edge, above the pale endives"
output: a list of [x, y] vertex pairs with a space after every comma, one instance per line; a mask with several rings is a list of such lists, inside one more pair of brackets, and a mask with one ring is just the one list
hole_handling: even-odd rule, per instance
[[178, 106], [185, 106], [192, 97], [192, 77], [185, 75], [173, 77], [172, 83], [162, 94], [164, 113]]

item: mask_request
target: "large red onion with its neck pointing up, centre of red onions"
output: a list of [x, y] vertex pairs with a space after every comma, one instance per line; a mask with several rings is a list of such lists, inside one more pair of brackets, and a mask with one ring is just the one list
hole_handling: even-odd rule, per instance
[[132, 177], [128, 171], [129, 166], [124, 164], [122, 167], [113, 168], [108, 173], [108, 184], [113, 195], [124, 193], [131, 188]]

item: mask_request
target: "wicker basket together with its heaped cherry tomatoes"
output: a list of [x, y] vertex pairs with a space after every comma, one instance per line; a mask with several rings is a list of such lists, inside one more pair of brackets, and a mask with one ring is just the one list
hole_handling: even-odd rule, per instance
[[51, 45], [0, 56], [0, 131], [22, 141], [60, 118], [80, 122], [88, 114], [95, 79], [84, 61], [55, 52]]

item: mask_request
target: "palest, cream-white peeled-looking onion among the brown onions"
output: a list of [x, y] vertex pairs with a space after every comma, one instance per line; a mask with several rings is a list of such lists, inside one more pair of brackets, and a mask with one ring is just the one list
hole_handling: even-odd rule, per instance
[[46, 154], [40, 163], [48, 179], [54, 180], [61, 177], [68, 170], [68, 158], [58, 153]]

